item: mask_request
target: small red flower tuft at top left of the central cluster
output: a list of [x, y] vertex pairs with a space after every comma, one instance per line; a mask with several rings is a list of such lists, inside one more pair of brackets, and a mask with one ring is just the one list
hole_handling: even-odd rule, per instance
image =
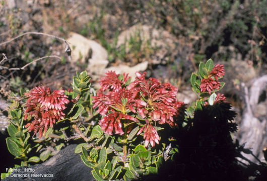
[[115, 71], [108, 71], [106, 72], [106, 76], [100, 80], [100, 91], [103, 92], [110, 89], [111, 91], [119, 92], [122, 84], [126, 83], [128, 79], [128, 74], [123, 73], [123, 78], [119, 79], [119, 74], [116, 74]]

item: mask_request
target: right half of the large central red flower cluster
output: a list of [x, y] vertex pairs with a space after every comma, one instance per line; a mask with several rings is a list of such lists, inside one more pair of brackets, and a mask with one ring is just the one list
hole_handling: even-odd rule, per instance
[[[179, 114], [178, 109], [184, 105], [178, 102], [176, 95], [178, 89], [170, 83], [161, 84], [156, 78], [146, 80], [146, 72], [137, 72], [136, 80], [129, 84], [127, 88], [132, 92], [141, 93], [139, 97], [147, 100], [147, 107], [138, 108], [142, 118], [147, 116], [151, 120], [159, 121], [160, 124], [168, 123], [171, 127], [176, 126], [173, 117]], [[149, 111], [147, 111], [149, 110]]]

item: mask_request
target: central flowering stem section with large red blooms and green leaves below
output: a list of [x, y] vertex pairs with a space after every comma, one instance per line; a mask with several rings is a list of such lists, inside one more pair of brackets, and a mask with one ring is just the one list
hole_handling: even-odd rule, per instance
[[165, 124], [177, 127], [178, 118], [184, 116], [185, 104], [176, 98], [178, 89], [147, 79], [146, 72], [136, 75], [130, 82], [127, 74], [109, 71], [92, 97], [92, 108], [102, 118], [89, 137], [94, 145], [82, 143], [76, 152], [83, 152], [81, 158], [93, 168], [97, 180], [137, 179], [156, 173], [163, 160], [177, 151], [174, 145], [160, 143], [159, 131]]

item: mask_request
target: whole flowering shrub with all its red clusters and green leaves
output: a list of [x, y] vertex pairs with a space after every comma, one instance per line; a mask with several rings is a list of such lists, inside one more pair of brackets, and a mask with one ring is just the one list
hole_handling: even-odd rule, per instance
[[[39, 139], [59, 132], [64, 141], [84, 139], [75, 152], [82, 152], [82, 161], [92, 168], [97, 180], [138, 179], [158, 173], [163, 162], [175, 158], [178, 141], [171, 134], [173, 128], [174, 132], [178, 125], [179, 129], [191, 128], [192, 120], [196, 119], [191, 116], [195, 112], [222, 105], [226, 98], [216, 93], [224, 86], [224, 82], [219, 82], [224, 73], [223, 65], [214, 66], [211, 59], [206, 64], [200, 63], [199, 71], [191, 75], [198, 100], [185, 110], [185, 104], [176, 98], [176, 87], [156, 78], [147, 79], [146, 72], [137, 72], [136, 79], [131, 82], [128, 74], [109, 71], [101, 78], [97, 92], [91, 88], [87, 72], [77, 72], [73, 77], [73, 89], [51, 93], [49, 87], [34, 87], [24, 94], [27, 99], [24, 117], [17, 108], [11, 115], [27, 121], [20, 123], [20, 130], [27, 128], [21, 137], [26, 143], [31, 131]], [[64, 121], [70, 126], [54, 132], [54, 125]], [[17, 124], [11, 123], [10, 135], [14, 137], [13, 127]], [[65, 129], [74, 136], [68, 137]], [[27, 153], [20, 150], [21, 145], [13, 139], [7, 140], [9, 150], [17, 157]], [[60, 144], [62, 147], [64, 142]], [[30, 160], [44, 161], [49, 155], [49, 150], [45, 150], [40, 158], [36, 156]], [[27, 160], [25, 157], [25, 162]]]

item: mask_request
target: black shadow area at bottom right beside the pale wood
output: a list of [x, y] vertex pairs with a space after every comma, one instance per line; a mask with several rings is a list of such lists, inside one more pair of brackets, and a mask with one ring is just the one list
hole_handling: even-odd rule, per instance
[[185, 127], [170, 132], [179, 145], [173, 161], [140, 180], [265, 180], [267, 164], [242, 164], [237, 159], [244, 159], [241, 152], [250, 150], [233, 143], [231, 133], [237, 124], [230, 109], [229, 103], [218, 103], [196, 111]]

